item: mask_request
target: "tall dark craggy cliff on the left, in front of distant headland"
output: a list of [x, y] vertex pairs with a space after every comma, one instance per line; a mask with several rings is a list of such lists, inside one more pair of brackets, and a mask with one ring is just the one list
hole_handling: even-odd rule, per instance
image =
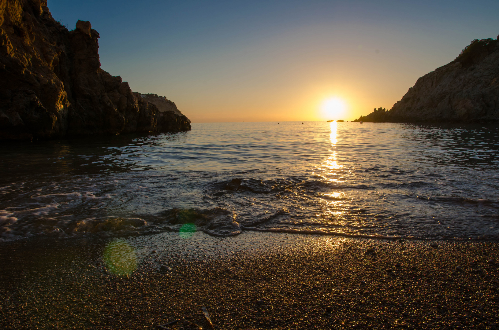
[[191, 129], [100, 68], [90, 22], [68, 31], [46, 4], [0, 0], [0, 140]]

